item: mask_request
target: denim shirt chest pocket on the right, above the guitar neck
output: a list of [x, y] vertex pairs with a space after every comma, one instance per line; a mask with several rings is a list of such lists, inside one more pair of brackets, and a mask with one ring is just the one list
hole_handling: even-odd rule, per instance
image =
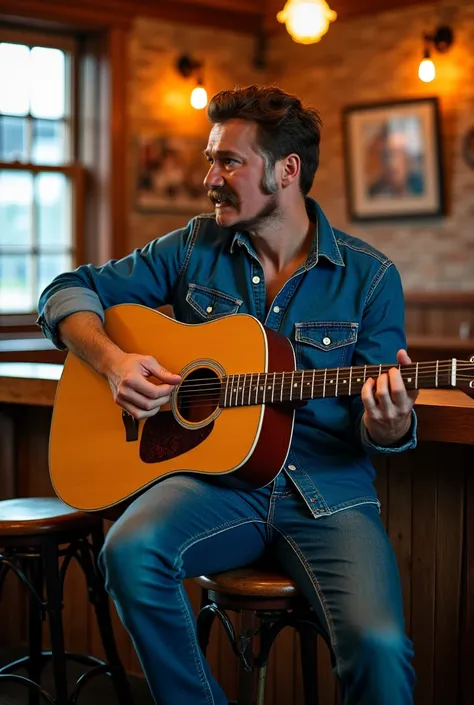
[[350, 365], [358, 328], [358, 323], [348, 321], [296, 323], [295, 349], [298, 368], [326, 369]]

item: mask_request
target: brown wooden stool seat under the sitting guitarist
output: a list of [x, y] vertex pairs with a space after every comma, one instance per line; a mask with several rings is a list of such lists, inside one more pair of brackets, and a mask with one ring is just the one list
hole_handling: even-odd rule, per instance
[[195, 580], [206, 590], [228, 595], [291, 598], [300, 594], [296, 584], [287, 575], [258, 566], [246, 566], [215, 575], [201, 575]]

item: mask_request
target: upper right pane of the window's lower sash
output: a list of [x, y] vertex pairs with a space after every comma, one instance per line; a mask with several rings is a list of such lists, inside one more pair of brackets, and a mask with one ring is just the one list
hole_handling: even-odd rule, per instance
[[71, 183], [64, 174], [38, 174], [35, 181], [40, 249], [72, 245]]

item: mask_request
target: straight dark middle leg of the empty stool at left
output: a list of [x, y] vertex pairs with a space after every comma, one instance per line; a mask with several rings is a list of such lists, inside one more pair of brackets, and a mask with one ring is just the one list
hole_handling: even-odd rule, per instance
[[63, 589], [59, 574], [58, 546], [54, 535], [52, 537], [48, 536], [43, 538], [42, 550], [46, 587], [46, 609], [51, 636], [51, 654], [56, 695], [55, 703], [56, 705], [67, 705], [67, 670], [62, 622]]

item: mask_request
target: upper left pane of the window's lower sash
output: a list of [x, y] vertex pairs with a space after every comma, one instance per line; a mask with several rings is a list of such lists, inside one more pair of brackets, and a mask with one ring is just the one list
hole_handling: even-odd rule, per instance
[[33, 175], [0, 171], [0, 247], [32, 246]]

